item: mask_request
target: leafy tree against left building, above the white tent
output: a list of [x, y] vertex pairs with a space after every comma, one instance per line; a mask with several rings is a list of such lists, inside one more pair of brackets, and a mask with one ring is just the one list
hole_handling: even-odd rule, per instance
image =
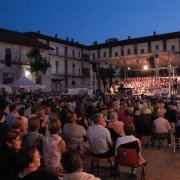
[[34, 74], [36, 78], [46, 73], [49, 62], [41, 56], [38, 48], [32, 48], [29, 53], [27, 53], [27, 58], [30, 63], [30, 72]]

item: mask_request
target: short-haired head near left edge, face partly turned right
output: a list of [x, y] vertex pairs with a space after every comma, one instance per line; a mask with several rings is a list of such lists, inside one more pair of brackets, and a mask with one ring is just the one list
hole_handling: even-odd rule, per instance
[[16, 130], [10, 131], [5, 138], [5, 145], [10, 149], [19, 151], [22, 145], [20, 133]]

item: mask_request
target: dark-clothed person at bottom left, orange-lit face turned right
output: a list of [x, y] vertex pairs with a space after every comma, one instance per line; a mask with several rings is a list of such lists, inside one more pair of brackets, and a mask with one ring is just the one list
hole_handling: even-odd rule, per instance
[[41, 165], [41, 156], [36, 148], [30, 147], [22, 152], [21, 170], [17, 180], [58, 180], [59, 178], [52, 173], [38, 170]]

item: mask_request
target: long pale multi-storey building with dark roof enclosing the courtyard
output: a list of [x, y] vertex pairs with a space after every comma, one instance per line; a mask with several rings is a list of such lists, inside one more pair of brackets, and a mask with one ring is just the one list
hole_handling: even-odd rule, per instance
[[[93, 72], [92, 62], [97, 69], [108, 67], [116, 70], [115, 79], [124, 78], [127, 71], [142, 71], [149, 66], [158, 71], [169, 68], [173, 76], [179, 75], [180, 65], [180, 32], [118, 40], [111, 38], [105, 43], [87, 46], [73, 39], [62, 40], [57, 34], [54, 37], [38, 32], [20, 33], [0, 29], [0, 83], [10, 84], [25, 75], [35, 81], [29, 69], [27, 53], [39, 48], [42, 57], [50, 67], [38, 83], [45, 85], [48, 92], [63, 92], [67, 88], [90, 87], [101, 88]], [[123, 75], [122, 75], [123, 72]]]

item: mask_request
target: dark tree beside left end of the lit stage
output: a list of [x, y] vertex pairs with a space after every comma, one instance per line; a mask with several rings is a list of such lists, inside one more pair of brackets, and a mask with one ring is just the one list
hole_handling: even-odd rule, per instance
[[109, 80], [110, 86], [112, 85], [114, 74], [115, 70], [112, 68], [101, 67], [97, 70], [97, 76], [102, 80], [104, 89], [106, 88], [107, 80]]

